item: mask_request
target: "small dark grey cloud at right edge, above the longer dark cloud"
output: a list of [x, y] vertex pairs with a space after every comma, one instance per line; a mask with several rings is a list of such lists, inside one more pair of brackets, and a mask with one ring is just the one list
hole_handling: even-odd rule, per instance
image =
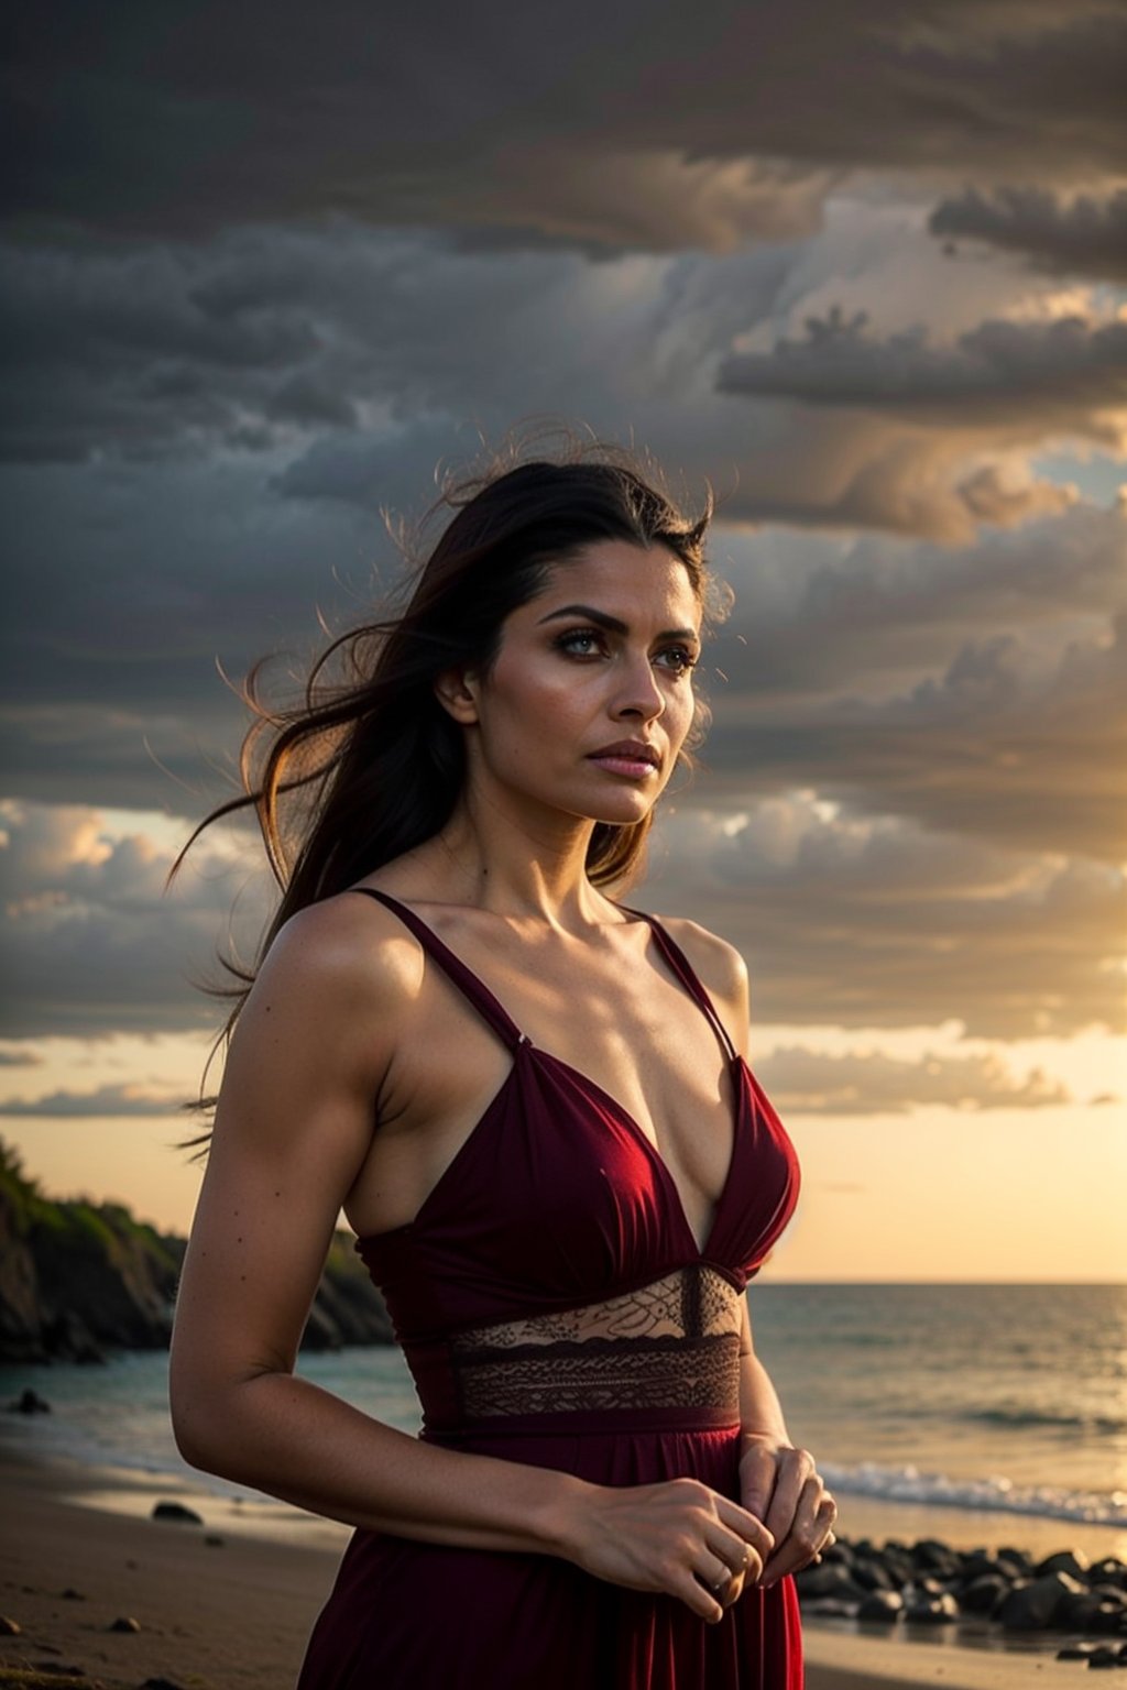
[[1053, 275], [1127, 281], [1127, 188], [1107, 198], [1064, 199], [1044, 188], [968, 188], [943, 199], [928, 221], [933, 235], [1017, 252]]

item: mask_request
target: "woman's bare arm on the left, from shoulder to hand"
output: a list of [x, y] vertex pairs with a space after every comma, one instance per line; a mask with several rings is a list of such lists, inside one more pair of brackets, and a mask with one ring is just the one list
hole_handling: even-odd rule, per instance
[[[770, 1538], [694, 1480], [617, 1489], [444, 1450], [294, 1374], [378, 1100], [402, 1090], [422, 965], [407, 936], [363, 945], [353, 911], [302, 911], [240, 1014], [177, 1298], [172, 1423], [186, 1460], [348, 1524], [465, 1548], [561, 1555], [662, 1590], [703, 1619]], [[747, 1551], [745, 1553], [745, 1546]]]

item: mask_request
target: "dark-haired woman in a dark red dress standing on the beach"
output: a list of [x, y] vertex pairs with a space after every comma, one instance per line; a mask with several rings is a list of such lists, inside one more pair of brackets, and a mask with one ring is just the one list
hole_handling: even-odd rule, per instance
[[[248, 781], [284, 896], [184, 1264], [176, 1435], [357, 1528], [301, 1690], [794, 1690], [789, 1573], [835, 1506], [743, 1298], [794, 1153], [737, 953], [603, 891], [693, 735], [708, 517], [607, 451], [456, 504], [406, 613], [338, 642], [351, 679], [314, 671]], [[419, 1438], [294, 1377], [341, 1205]]]

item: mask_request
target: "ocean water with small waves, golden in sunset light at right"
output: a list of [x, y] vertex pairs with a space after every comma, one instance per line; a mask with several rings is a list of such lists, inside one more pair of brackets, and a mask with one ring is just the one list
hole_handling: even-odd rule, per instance
[[[1061, 1543], [1105, 1528], [1107, 1551], [1127, 1550], [1127, 1286], [767, 1283], [750, 1306], [791, 1435], [816, 1453], [843, 1531], [850, 1504], [865, 1529], [872, 1504], [894, 1521], [911, 1504], [917, 1531], [933, 1514], [948, 1528], [965, 1518], [970, 1536], [1046, 1541], [1058, 1521]], [[417, 1428], [394, 1349], [302, 1355], [299, 1371]], [[52, 1408], [3, 1415], [3, 1443], [237, 1494], [176, 1452], [166, 1374], [162, 1354], [2, 1367], [0, 1403], [32, 1386]]]

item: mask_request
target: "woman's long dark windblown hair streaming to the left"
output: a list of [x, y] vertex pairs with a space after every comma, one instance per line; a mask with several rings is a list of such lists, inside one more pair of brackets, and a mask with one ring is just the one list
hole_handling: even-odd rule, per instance
[[[262, 703], [262, 664], [243, 686], [253, 722], [242, 749], [243, 793], [193, 831], [252, 810], [280, 887], [253, 967], [223, 960], [235, 999], [220, 1043], [230, 1038], [259, 963], [282, 924], [323, 897], [343, 892], [449, 820], [465, 784], [463, 730], [443, 710], [434, 681], [444, 669], [487, 674], [505, 619], [542, 588], [553, 564], [596, 541], [664, 546], [684, 564], [708, 605], [705, 532], [711, 495], [696, 517], [664, 490], [657, 468], [613, 446], [569, 443], [553, 460], [493, 461], [444, 488], [421, 532], [444, 510], [453, 517], [421, 564], [399, 615], [335, 639], [314, 662], [299, 703]], [[686, 749], [703, 732], [703, 708]], [[651, 816], [596, 823], [586, 870], [596, 886], [625, 882], [637, 869]]]

